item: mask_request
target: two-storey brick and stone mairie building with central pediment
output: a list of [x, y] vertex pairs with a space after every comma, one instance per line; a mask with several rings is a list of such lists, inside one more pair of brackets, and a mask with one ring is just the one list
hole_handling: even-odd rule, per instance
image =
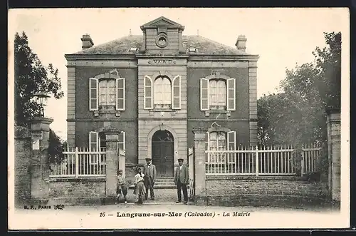
[[206, 150], [256, 145], [258, 55], [246, 37], [225, 46], [163, 16], [140, 28], [98, 46], [85, 34], [66, 54], [68, 145], [101, 150], [103, 128], [117, 128], [126, 175], [150, 157], [161, 177], [188, 162], [193, 128], [207, 131]]

